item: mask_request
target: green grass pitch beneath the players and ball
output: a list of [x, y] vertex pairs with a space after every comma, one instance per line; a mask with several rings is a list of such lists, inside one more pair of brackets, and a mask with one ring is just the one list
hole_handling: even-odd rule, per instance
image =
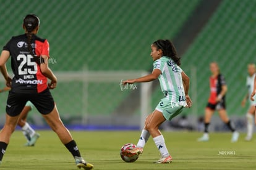
[[[38, 131], [35, 147], [23, 147], [25, 138], [15, 131], [0, 169], [77, 169], [74, 159], [53, 131]], [[159, 153], [150, 139], [134, 163], [124, 163], [119, 150], [126, 143], [137, 144], [139, 131], [71, 131], [85, 160], [94, 169], [256, 169], [256, 140], [245, 142], [241, 134], [231, 143], [231, 133], [212, 133], [209, 142], [197, 142], [198, 132], [163, 132], [173, 156], [171, 164], [153, 164]]]

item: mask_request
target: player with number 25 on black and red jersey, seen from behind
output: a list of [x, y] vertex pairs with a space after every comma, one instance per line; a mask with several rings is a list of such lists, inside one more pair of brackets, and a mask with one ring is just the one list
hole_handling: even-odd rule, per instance
[[[56, 132], [62, 144], [72, 153], [77, 167], [92, 169], [93, 165], [83, 160], [75, 140], [59, 118], [57, 107], [49, 91], [56, 87], [57, 78], [48, 67], [48, 41], [36, 36], [39, 25], [40, 20], [36, 15], [26, 15], [23, 19], [25, 34], [12, 37], [1, 53], [0, 70], [11, 91], [6, 105], [6, 123], [0, 132], [0, 163], [11, 134], [15, 130], [19, 114], [29, 100]], [[6, 69], [6, 62], [10, 56], [13, 78], [8, 75]], [[50, 80], [48, 84], [47, 78]]]

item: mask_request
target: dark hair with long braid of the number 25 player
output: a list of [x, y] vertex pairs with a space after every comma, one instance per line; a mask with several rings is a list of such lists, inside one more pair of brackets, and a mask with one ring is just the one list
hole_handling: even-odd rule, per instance
[[35, 59], [35, 62], [40, 64], [40, 61], [38, 60], [38, 57], [35, 57], [33, 54], [33, 49], [32, 49], [32, 42], [33, 42], [33, 34], [32, 31], [35, 30], [36, 26], [40, 25], [40, 20], [35, 14], [28, 14], [25, 16], [23, 19], [23, 26], [27, 30], [27, 44], [28, 44], [28, 52], [33, 56]]

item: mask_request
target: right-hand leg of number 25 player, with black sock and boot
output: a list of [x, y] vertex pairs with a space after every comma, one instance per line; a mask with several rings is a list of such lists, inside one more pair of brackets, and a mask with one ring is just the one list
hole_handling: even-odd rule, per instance
[[82, 156], [80, 155], [79, 148], [77, 147], [75, 140], [72, 139], [69, 130], [62, 123], [56, 106], [53, 108], [51, 113], [43, 115], [43, 118], [45, 118], [51, 129], [56, 132], [62, 144], [64, 144], [69, 152], [72, 153], [77, 167], [83, 169], [92, 169], [93, 165], [83, 160]]

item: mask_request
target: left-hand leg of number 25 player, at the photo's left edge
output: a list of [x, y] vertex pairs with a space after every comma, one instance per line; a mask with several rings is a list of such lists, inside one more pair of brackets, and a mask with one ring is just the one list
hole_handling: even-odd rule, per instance
[[0, 131], [0, 164], [2, 162], [2, 157], [6, 152], [7, 145], [9, 144], [12, 132], [14, 132], [15, 127], [17, 125], [19, 119], [19, 115], [17, 116], [9, 116], [6, 114], [6, 123], [2, 130]]

